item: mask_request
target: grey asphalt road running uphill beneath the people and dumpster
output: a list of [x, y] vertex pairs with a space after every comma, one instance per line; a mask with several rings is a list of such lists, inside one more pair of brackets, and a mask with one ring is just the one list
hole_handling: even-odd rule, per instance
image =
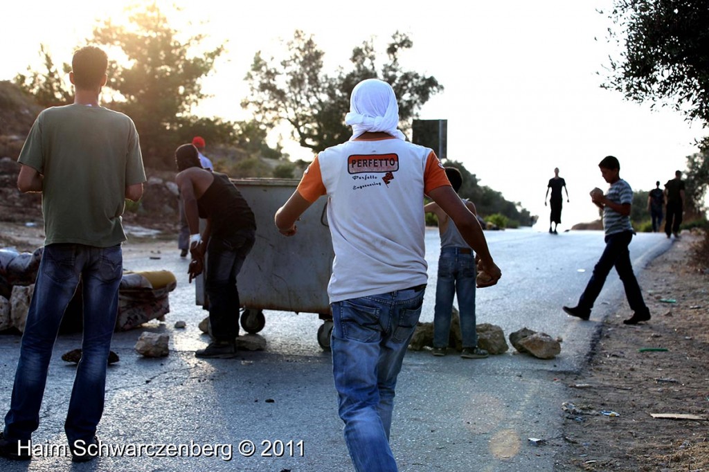
[[[552, 471], [563, 454], [562, 410], [567, 386], [560, 374], [579, 369], [598, 323], [620, 303], [630, 311], [614, 274], [591, 321], [564, 315], [575, 304], [603, 249], [601, 232], [561, 235], [532, 230], [486, 232], [503, 271], [498, 286], [477, 292], [477, 322], [491, 322], [506, 335], [522, 327], [562, 337], [562, 353], [543, 361], [510, 352], [465, 360], [410, 352], [397, 388], [391, 444], [401, 471]], [[427, 235], [429, 274], [422, 321], [432, 321], [437, 232]], [[632, 242], [636, 273], [671, 243], [641, 234]], [[266, 312], [259, 334], [264, 352], [237, 359], [199, 360], [194, 350], [208, 339], [197, 328], [206, 312], [194, 304], [185, 259], [174, 242], [150, 254], [124, 250], [125, 268], [168, 269], [178, 277], [165, 322], [116, 333], [121, 361], [108, 370], [108, 392], [99, 437], [108, 456], [75, 464], [61, 451], [28, 463], [0, 459], [14, 471], [351, 471], [337, 417], [332, 365], [309, 313]], [[186, 329], [174, 328], [185, 320]], [[143, 359], [133, 346], [143, 331], [167, 332], [170, 354]], [[57, 339], [40, 428], [34, 444], [65, 444], [63, 421], [74, 367], [60, 354], [79, 347], [80, 335]], [[0, 410], [6, 411], [17, 363], [19, 337], [0, 337]], [[533, 446], [529, 438], [545, 439]], [[164, 445], [161, 450], [160, 445]], [[117, 448], [125, 448], [123, 454]], [[140, 453], [140, 456], [136, 456]], [[181, 455], [177, 455], [180, 453]], [[252, 453], [252, 454], [251, 454]], [[164, 456], [159, 456], [162, 454]]]

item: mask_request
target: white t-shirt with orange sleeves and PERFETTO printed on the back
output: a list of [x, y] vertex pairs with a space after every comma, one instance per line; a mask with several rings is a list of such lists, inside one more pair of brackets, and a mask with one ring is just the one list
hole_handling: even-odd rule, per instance
[[298, 193], [310, 202], [328, 196], [330, 303], [426, 283], [423, 196], [445, 185], [432, 150], [394, 137], [347, 141], [318, 154]]

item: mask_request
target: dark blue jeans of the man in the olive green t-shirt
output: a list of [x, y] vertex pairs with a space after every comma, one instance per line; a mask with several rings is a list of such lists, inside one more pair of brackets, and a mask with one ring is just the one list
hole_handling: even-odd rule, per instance
[[83, 282], [84, 339], [69, 400], [65, 432], [69, 443], [91, 442], [104, 412], [106, 366], [118, 315], [123, 275], [121, 245], [54, 244], [44, 248], [35, 281], [20, 360], [5, 416], [5, 437], [26, 441], [39, 426], [52, 348], [64, 311]]

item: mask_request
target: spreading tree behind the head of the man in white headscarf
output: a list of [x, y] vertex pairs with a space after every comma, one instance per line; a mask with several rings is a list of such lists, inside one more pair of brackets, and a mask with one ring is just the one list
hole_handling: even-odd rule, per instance
[[433, 94], [443, 90], [435, 77], [403, 70], [398, 62], [401, 51], [413, 47], [407, 35], [394, 33], [386, 48], [387, 61], [377, 67], [372, 40], [352, 50], [352, 69], [340, 68], [335, 74], [323, 71], [325, 53], [312, 35], [296, 30], [288, 45], [287, 57], [279, 62], [266, 60], [257, 52], [246, 79], [251, 94], [242, 106], [255, 113], [269, 128], [289, 123], [293, 136], [302, 147], [314, 152], [346, 141], [350, 128], [345, 114], [350, 110], [354, 86], [370, 78], [389, 82], [399, 100], [399, 118], [403, 128]]

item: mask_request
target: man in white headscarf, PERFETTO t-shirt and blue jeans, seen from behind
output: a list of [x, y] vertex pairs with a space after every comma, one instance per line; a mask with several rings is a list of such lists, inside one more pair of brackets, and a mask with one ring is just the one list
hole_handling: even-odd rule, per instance
[[352, 126], [350, 140], [318, 154], [275, 222], [282, 234], [295, 235], [298, 217], [328, 196], [335, 251], [330, 347], [345, 442], [357, 471], [396, 471], [389, 447], [394, 389], [428, 279], [423, 196], [450, 215], [479, 254], [489, 275], [480, 286], [494, 285], [501, 272], [435, 153], [406, 142], [396, 129], [398, 105], [389, 84], [359, 82], [345, 123]]

